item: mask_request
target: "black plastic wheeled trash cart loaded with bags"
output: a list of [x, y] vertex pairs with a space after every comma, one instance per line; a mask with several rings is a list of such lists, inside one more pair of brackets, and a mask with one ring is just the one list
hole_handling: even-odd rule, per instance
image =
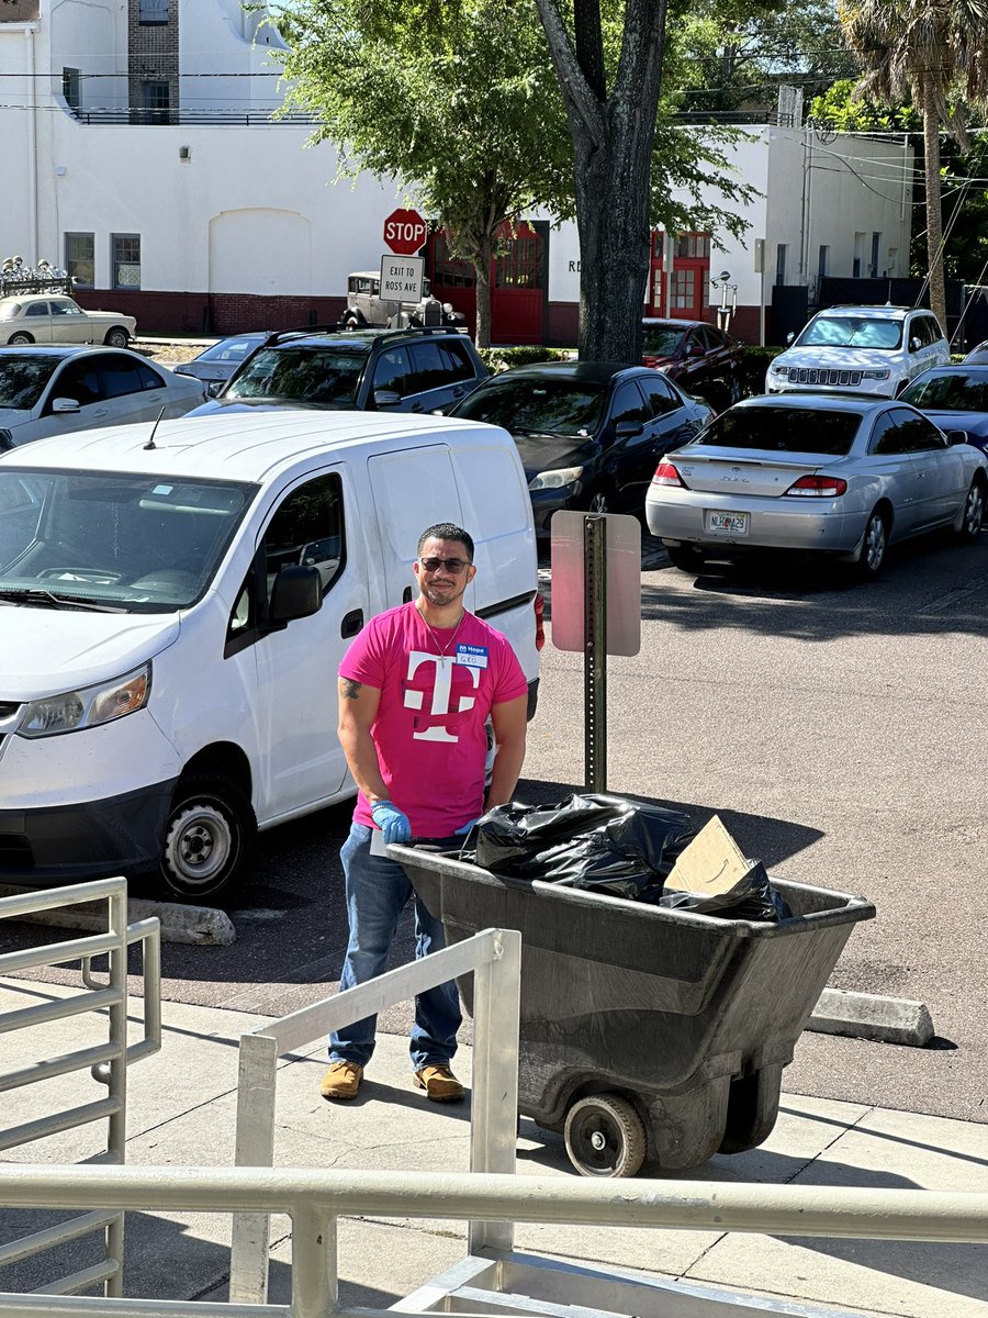
[[[773, 879], [793, 916], [725, 920], [391, 846], [447, 941], [522, 933], [519, 1108], [584, 1176], [634, 1176], [761, 1144], [782, 1068], [862, 898]], [[460, 982], [473, 1011], [473, 977]]]

